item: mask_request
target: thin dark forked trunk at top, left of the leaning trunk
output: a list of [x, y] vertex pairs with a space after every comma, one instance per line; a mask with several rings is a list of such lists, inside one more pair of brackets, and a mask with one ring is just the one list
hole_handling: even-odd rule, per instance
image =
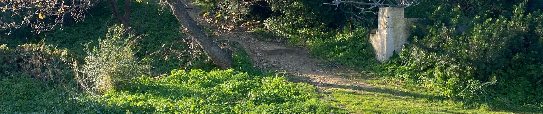
[[115, 19], [123, 24], [124, 28], [130, 28], [130, 0], [124, 0], [124, 16], [121, 16], [121, 12], [119, 12], [119, 7], [117, 6], [117, 2], [115, 2], [115, 0], [109, 0], [109, 3], [111, 3], [111, 9], [113, 10]]

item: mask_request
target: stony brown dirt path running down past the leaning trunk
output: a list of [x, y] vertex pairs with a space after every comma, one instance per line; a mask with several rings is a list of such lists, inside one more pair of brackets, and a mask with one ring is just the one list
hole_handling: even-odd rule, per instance
[[[188, 3], [187, 10], [190, 16], [197, 20], [203, 18], [198, 15], [201, 8], [191, 2]], [[255, 68], [263, 71], [272, 70], [277, 73], [287, 73], [286, 77], [289, 78], [289, 81], [304, 82], [321, 89], [372, 89], [367, 84], [343, 77], [344, 75], [356, 76], [356, 71], [342, 67], [342, 65], [328, 67], [331, 62], [309, 57], [306, 49], [287, 48], [284, 44], [277, 42], [261, 41], [262, 38], [251, 35], [247, 31], [230, 33], [219, 37], [241, 44], [242, 47], [238, 48], [245, 48]]]

